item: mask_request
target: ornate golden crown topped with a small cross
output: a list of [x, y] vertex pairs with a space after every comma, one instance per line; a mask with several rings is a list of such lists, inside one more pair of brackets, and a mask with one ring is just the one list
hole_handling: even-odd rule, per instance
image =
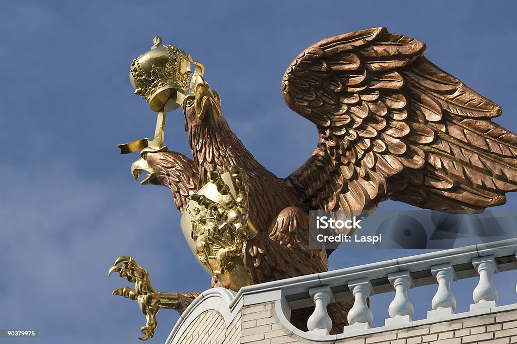
[[135, 58], [129, 70], [134, 92], [142, 96], [154, 111], [160, 111], [161, 107], [158, 107], [163, 106], [158, 101], [162, 98], [160, 93], [170, 90], [185, 93], [192, 76], [187, 54], [177, 46], [160, 46], [160, 43], [161, 39], [155, 40], [153, 48]]

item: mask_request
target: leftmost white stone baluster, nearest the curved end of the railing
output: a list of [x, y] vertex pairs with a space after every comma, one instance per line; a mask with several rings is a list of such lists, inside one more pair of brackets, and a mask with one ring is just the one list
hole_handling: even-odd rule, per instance
[[335, 302], [334, 294], [330, 286], [314, 287], [309, 289], [312, 301], [314, 301], [314, 312], [307, 320], [309, 331], [328, 335], [332, 329], [332, 319], [327, 312], [327, 305]]

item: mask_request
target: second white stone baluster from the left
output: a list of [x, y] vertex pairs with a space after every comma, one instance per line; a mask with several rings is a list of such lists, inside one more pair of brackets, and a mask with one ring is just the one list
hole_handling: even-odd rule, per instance
[[345, 331], [369, 329], [373, 315], [366, 299], [374, 294], [370, 280], [367, 278], [351, 280], [348, 282], [348, 289], [354, 294], [355, 300], [354, 306], [348, 311], [347, 320], [350, 325], [345, 326]]

